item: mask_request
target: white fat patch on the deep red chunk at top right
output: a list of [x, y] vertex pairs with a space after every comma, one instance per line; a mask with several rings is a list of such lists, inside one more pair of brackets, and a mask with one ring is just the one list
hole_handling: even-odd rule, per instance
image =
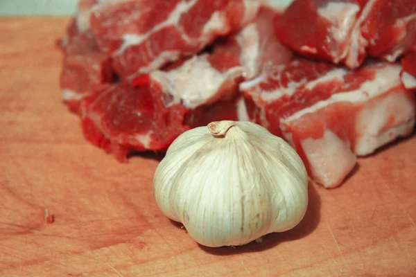
[[[356, 15], [360, 11], [360, 6], [356, 3], [348, 2], [329, 2], [326, 6], [318, 8], [318, 14], [329, 20], [333, 26], [329, 28], [331, 37], [336, 42], [343, 44], [347, 41], [350, 30], [356, 22]], [[331, 56], [334, 62], [338, 63], [347, 55], [348, 48], [345, 47], [342, 53], [338, 53], [340, 49], [333, 49]]]

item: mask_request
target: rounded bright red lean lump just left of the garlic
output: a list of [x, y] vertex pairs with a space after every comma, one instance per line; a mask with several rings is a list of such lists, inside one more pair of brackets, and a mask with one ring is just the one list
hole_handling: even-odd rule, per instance
[[85, 138], [124, 161], [132, 150], [165, 150], [182, 132], [187, 109], [166, 108], [157, 88], [114, 84], [89, 103], [83, 116]]

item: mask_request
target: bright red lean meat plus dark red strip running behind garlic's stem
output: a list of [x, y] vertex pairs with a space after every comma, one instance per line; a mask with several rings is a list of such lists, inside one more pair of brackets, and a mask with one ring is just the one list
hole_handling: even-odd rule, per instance
[[214, 120], [249, 117], [241, 97], [197, 109], [181, 104], [166, 107], [165, 102], [166, 94], [157, 84], [114, 84], [83, 101], [83, 134], [89, 142], [123, 162], [131, 152], [165, 152], [177, 136], [190, 128]]

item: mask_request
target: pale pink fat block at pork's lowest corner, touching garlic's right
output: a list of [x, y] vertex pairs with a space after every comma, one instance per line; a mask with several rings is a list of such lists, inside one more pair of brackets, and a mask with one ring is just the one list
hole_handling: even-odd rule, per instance
[[329, 129], [320, 139], [304, 139], [302, 149], [310, 163], [311, 175], [325, 188], [338, 186], [356, 165], [349, 143]]

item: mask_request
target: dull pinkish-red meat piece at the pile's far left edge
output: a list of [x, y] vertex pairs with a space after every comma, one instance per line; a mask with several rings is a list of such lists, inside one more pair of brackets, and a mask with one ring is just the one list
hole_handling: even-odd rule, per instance
[[111, 59], [98, 51], [91, 33], [80, 33], [72, 21], [61, 41], [64, 62], [60, 74], [62, 100], [73, 112], [80, 112], [80, 102], [94, 91], [114, 81]]

